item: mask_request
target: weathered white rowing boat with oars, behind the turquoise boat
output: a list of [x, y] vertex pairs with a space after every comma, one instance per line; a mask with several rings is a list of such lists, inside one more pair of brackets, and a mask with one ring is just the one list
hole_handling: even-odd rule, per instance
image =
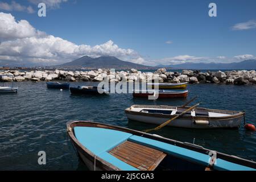
[[[128, 119], [161, 125], [189, 107], [133, 105], [125, 110]], [[196, 107], [168, 123], [167, 126], [190, 129], [238, 128], [245, 113], [241, 111], [217, 110]]]

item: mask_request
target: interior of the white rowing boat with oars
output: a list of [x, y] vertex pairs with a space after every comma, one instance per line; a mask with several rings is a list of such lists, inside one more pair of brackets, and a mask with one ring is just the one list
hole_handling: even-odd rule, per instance
[[[167, 115], [175, 115], [175, 114], [181, 114], [183, 111], [188, 109], [188, 107], [181, 107], [181, 106], [168, 106], [169, 108], [158, 108], [158, 107], [134, 107], [131, 106], [131, 111], [137, 111], [142, 113], [152, 113], [152, 114], [167, 114]], [[206, 109], [197, 107], [195, 109], [192, 109], [191, 111], [188, 111], [184, 115], [191, 115], [192, 117], [225, 117], [229, 115], [238, 114], [238, 111], [225, 111], [225, 110], [215, 110], [215, 109]]]

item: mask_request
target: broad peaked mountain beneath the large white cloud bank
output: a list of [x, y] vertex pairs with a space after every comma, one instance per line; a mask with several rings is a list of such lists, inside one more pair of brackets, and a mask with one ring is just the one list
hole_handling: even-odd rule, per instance
[[85, 69], [98, 69], [98, 68], [115, 68], [115, 69], [150, 69], [142, 64], [130, 63], [128, 61], [122, 61], [114, 56], [101, 56], [92, 58], [89, 56], [82, 56], [79, 59], [73, 60], [68, 63], [56, 65], [59, 68], [85, 68]]

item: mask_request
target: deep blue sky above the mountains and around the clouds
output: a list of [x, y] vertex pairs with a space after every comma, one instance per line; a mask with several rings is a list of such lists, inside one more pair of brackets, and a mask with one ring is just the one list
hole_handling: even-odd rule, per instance
[[[16, 5], [13, 2], [24, 8], [11, 8]], [[20, 48], [24, 55], [19, 51], [16, 60], [55, 64], [63, 60], [71, 61], [83, 54], [109, 54], [134, 63], [156, 65], [212, 61], [229, 63], [255, 58], [256, 55], [256, 1], [253, 0], [46, 0], [46, 17], [37, 15], [38, 2], [43, 1], [0, 0], [0, 12], [10, 13], [16, 23], [22, 19], [27, 20], [35, 30], [45, 32], [47, 36], [52, 35], [76, 46], [86, 45], [90, 48], [83, 47], [82, 51], [77, 51], [80, 49], [77, 48], [69, 52], [51, 47], [49, 54], [46, 53], [48, 56], [42, 57], [40, 54], [33, 57], [31, 52], [27, 53], [24, 48]], [[217, 5], [217, 17], [208, 15], [211, 2]], [[10, 6], [3, 6], [3, 3]], [[28, 11], [27, 7], [32, 10]], [[32, 36], [40, 37], [34, 34], [28, 37], [32, 39]], [[15, 41], [3, 36], [1, 40]], [[109, 40], [113, 43], [106, 46]], [[23, 42], [19, 41], [20, 44]], [[97, 48], [97, 45], [101, 45], [101, 48]], [[114, 45], [121, 50], [116, 51]], [[6, 46], [12, 47], [14, 44]], [[92, 48], [93, 51], [89, 50]], [[47, 45], [42, 49], [47, 49]], [[68, 53], [72, 56], [67, 56]], [[6, 55], [5, 51], [1, 52], [0, 46], [0, 55], [2, 60], [7, 61], [14, 59], [17, 53]]]

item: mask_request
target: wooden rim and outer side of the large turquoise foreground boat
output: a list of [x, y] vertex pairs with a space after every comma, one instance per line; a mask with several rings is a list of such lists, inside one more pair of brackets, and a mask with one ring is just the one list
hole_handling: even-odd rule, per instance
[[[197, 145], [192, 144], [192, 143], [179, 142], [179, 141], [173, 140], [173, 139], [157, 137], [157, 136], [152, 135], [152, 134], [143, 133], [142, 131], [126, 129], [126, 128], [120, 127], [120, 126], [112, 126], [112, 125], [108, 125], [108, 124], [90, 122], [90, 121], [72, 121], [72, 122], [68, 122], [67, 123], [67, 132], [68, 132], [69, 137], [71, 138], [71, 141], [75, 144], [77, 149], [80, 152], [82, 152], [82, 154], [84, 154], [85, 156], [88, 156], [88, 159], [92, 162], [94, 162], [94, 156], [95, 155], [92, 152], [90, 152], [87, 148], [82, 146], [82, 144], [76, 139], [75, 135], [73, 134], [74, 133], [73, 127], [75, 127], [75, 126], [101, 127], [101, 128], [105, 128], [105, 129], [123, 131], [123, 132], [130, 133], [130, 134], [133, 134], [133, 135], [138, 135], [138, 136], [143, 136], [145, 138], [154, 139], [154, 140], [157, 140], [159, 142], [172, 144], [174, 146], [187, 148], [188, 150], [200, 152], [200, 153], [206, 154], [206, 155], [208, 155], [209, 152], [212, 151], [212, 150], [209, 150], [209, 149], [204, 148], [202, 146], [197, 146]], [[216, 154], [217, 154], [217, 158], [221, 158], [221, 159], [226, 160], [228, 162], [240, 164], [240, 165], [251, 167], [251, 168], [255, 168], [255, 166], [256, 166], [256, 162], [253, 162], [253, 161], [247, 160], [247, 159], [243, 159], [243, 158], [240, 158], [238, 156], [228, 155], [228, 154], [224, 154], [222, 152], [217, 152], [217, 151], [216, 151]], [[102, 168], [104, 170], [120, 170], [117, 167], [113, 166], [112, 164], [106, 162], [105, 160], [102, 160], [101, 158], [97, 157], [96, 158], [96, 166], [99, 166], [99, 165], [100, 165], [100, 168]]]

